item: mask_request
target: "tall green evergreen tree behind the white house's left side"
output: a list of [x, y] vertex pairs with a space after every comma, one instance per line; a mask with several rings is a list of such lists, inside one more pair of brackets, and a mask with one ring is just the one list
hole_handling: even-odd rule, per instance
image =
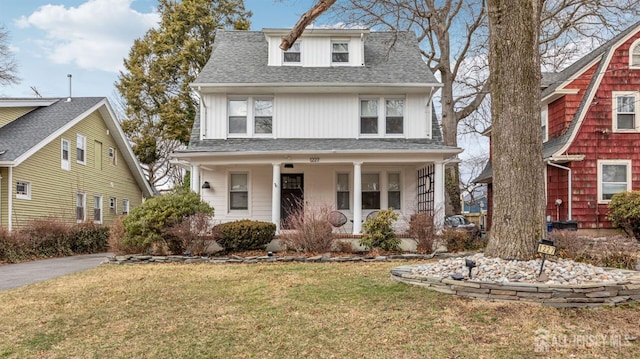
[[243, 0], [159, 0], [160, 23], [135, 40], [116, 88], [122, 129], [133, 142], [149, 182], [175, 184], [168, 155], [188, 143], [198, 109], [190, 83], [209, 60], [216, 30], [247, 30]]

